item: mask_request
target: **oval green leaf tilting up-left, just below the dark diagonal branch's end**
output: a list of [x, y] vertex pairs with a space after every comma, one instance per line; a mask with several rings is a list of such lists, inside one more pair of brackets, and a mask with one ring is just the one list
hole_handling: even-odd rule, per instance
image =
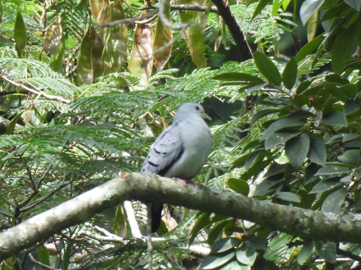
[[253, 52], [253, 59], [255, 60], [258, 71], [260, 71], [271, 84], [277, 86], [281, 84], [281, 75], [271, 58], [259, 51], [255, 51]]

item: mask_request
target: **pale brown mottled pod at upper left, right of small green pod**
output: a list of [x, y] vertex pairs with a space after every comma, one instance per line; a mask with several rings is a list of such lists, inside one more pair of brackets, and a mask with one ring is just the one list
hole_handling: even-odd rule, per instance
[[63, 29], [61, 27], [60, 14], [45, 33], [43, 50], [48, 54], [57, 54], [62, 36]]

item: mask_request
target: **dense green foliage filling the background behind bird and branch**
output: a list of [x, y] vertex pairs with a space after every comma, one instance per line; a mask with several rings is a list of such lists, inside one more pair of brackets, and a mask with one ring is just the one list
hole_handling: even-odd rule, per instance
[[[229, 4], [253, 59], [212, 1], [0, 0], [0, 230], [139, 172], [153, 136], [188, 101], [204, 102], [214, 119], [196, 181], [360, 213], [361, 2]], [[39, 239], [0, 269], [146, 268], [147, 246], [130, 224], [135, 215], [145, 234], [145, 205], [128, 206]], [[156, 269], [360, 269], [358, 244], [176, 206], [163, 221]]]

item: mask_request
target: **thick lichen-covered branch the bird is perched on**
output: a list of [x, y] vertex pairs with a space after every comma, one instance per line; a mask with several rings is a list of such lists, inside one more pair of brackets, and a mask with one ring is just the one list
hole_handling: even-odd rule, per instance
[[0, 260], [131, 199], [221, 213], [305, 239], [361, 243], [361, 215], [358, 214], [321, 213], [260, 201], [229, 190], [184, 186], [173, 179], [134, 174], [110, 180], [1, 232]]

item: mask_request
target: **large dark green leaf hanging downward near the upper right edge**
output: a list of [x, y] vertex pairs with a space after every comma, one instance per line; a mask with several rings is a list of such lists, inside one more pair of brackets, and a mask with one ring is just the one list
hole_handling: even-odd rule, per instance
[[355, 45], [358, 28], [355, 24], [342, 31], [331, 50], [331, 66], [336, 73], [341, 73], [345, 66], [345, 61], [351, 58]]

